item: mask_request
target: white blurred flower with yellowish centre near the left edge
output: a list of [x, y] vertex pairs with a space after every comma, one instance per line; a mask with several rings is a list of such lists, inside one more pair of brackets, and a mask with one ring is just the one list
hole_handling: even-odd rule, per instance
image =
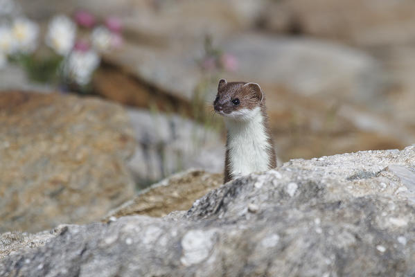
[[35, 22], [26, 18], [15, 19], [12, 25], [17, 50], [22, 53], [32, 53], [36, 50], [39, 27]]

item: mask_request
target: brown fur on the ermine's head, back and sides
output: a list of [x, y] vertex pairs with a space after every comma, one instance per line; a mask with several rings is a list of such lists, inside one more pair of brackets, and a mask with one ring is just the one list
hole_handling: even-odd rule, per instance
[[[271, 145], [271, 148], [267, 150], [269, 157], [269, 168], [276, 167], [276, 152], [274, 148], [274, 141], [272, 139], [272, 134], [270, 130], [270, 125], [268, 123], [268, 116], [265, 107], [265, 96], [261, 88], [257, 85], [249, 85], [249, 87], [244, 87], [247, 82], [226, 82], [225, 80], [220, 80], [218, 85], [218, 96], [213, 103], [215, 111], [223, 111], [224, 114], [229, 114], [231, 111], [238, 111], [239, 109], [254, 109], [255, 107], [260, 107], [261, 114], [263, 116], [263, 125], [265, 132], [267, 132], [268, 142]], [[240, 105], [232, 105], [231, 100], [239, 98]], [[230, 174], [229, 166], [229, 135], [227, 136], [227, 151], [225, 155], [225, 166], [224, 166], [224, 183], [232, 179]]]

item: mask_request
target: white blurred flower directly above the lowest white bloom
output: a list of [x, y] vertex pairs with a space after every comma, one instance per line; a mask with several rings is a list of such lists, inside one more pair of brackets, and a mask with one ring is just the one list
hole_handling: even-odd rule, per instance
[[76, 24], [69, 17], [58, 15], [49, 23], [46, 45], [59, 55], [68, 55], [76, 38]]

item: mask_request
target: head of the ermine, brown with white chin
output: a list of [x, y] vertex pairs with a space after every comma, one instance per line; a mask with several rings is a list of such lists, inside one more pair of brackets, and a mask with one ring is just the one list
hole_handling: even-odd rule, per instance
[[218, 95], [213, 102], [215, 112], [234, 120], [249, 120], [259, 111], [263, 92], [254, 82], [219, 81]]

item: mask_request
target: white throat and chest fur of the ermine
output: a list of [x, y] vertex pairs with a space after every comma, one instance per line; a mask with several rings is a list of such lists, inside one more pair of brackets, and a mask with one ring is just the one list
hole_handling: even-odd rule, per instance
[[[232, 177], [261, 172], [269, 169], [272, 146], [263, 124], [259, 107], [242, 109], [225, 119], [228, 130], [229, 167]], [[238, 120], [240, 116], [244, 120]], [[233, 118], [234, 117], [234, 118]]]

